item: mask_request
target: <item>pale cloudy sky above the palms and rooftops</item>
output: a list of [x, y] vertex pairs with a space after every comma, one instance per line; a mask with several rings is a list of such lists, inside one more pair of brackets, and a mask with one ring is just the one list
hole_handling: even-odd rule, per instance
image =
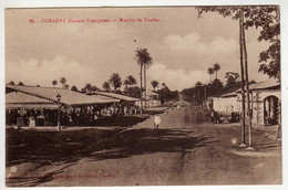
[[[120, 22], [121, 18], [135, 22]], [[49, 19], [65, 22], [48, 23]], [[69, 22], [76, 20], [84, 22]], [[269, 43], [257, 41], [256, 29], [246, 32], [249, 78], [265, 81], [268, 76], [258, 73], [258, 56]], [[223, 82], [226, 72], [239, 73], [238, 35], [238, 21], [216, 13], [198, 18], [194, 7], [7, 9], [6, 81], [52, 86], [53, 80], [64, 76], [70, 86], [102, 87], [112, 73], [119, 73], [122, 81], [132, 74], [140, 85], [135, 50], [146, 48], [153, 57], [147, 87], [156, 80], [182, 91], [198, 81], [208, 83], [207, 70], [215, 63], [220, 64]]]

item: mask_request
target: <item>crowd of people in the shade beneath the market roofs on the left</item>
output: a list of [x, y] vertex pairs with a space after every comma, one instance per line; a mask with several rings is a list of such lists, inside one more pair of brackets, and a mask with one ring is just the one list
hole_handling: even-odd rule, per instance
[[[60, 107], [60, 124], [64, 126], [94, 125], [97, 118], [116, 117], [117, 115], [142, 114], [142, 109], [132, 104], [90, 105]], [[56, 126], [58, 109], [19, 108], [7, 110], [7, 125], [19, 126]]]

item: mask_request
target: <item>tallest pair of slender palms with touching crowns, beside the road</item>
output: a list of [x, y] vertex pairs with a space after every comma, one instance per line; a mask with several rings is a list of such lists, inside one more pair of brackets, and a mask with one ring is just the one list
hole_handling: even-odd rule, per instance
[[[142, 94], [142, 70], [144, 68], [144, 87], [145, 87], [145, 107], [146, 107], [146, 95], [147, 95], [147, 87], [146, 87], [146, 68], [148, 68], [152, 65], [153, 59], [151, 57], [148, 50], [143, 48], [143, 49], [137, 49], [136, 50], [136, 60], [137, 64], [140, 65], [140, 71], [141, 71], [141, 94]], [[141, 102], [142, 106], [142, 102]]]

